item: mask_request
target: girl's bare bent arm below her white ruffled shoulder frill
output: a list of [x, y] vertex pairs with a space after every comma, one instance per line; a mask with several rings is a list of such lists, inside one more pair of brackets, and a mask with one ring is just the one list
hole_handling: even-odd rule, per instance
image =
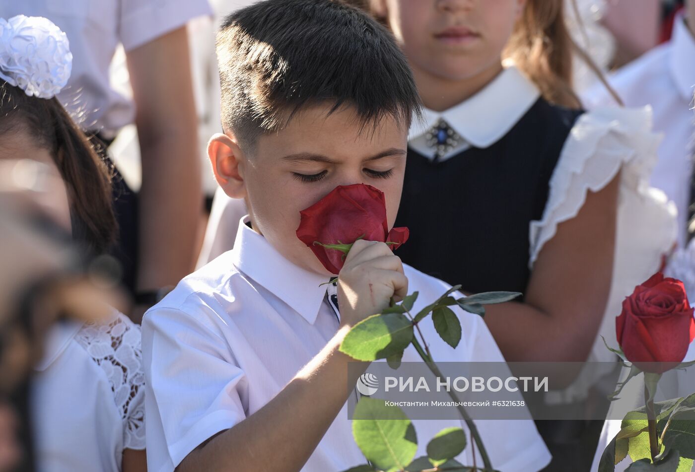
[[578, 215], [558, 225], [525, 302], [487, 307], [485, 321], [508, 361], [587, 359], [610, 294], [619, 181], [620, 174], [589, 192]]

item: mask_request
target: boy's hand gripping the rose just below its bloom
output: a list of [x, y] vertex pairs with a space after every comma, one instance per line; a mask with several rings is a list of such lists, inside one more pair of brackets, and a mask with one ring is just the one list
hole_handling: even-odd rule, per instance
[[338, 277], [341, 326], [354, 326], [408, 293], [403, 263], [386, 243], [355, 241]]

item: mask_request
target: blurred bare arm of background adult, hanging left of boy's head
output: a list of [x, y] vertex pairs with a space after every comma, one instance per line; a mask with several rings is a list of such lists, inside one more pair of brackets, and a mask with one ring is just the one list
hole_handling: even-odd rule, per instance
[[186, 26], [127, 53], [142, 156], [138, 290], [193, 270], [202, 209]]

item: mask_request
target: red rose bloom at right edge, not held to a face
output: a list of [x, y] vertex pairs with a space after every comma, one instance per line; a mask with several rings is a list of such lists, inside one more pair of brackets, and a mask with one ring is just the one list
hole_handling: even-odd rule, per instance
[[657, 273], [623, 301], [616, 318], [616, 334], [630, 362], [658, 362], [639, 366], [663, 373], [680, 364], [695, 339], [695, 319], [680, 280]]

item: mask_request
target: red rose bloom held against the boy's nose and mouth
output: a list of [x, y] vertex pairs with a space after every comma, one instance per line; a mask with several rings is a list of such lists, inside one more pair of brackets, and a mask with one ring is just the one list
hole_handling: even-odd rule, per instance
[[370, 185], [338, 186], [300, 214], [297, 238], [335, 275], [343, 268], [345, 254], [358, 239], [393, 243], [392, 250], [408, 239], [407, 228], [393, 228], [389, 232], [384, 193]]

